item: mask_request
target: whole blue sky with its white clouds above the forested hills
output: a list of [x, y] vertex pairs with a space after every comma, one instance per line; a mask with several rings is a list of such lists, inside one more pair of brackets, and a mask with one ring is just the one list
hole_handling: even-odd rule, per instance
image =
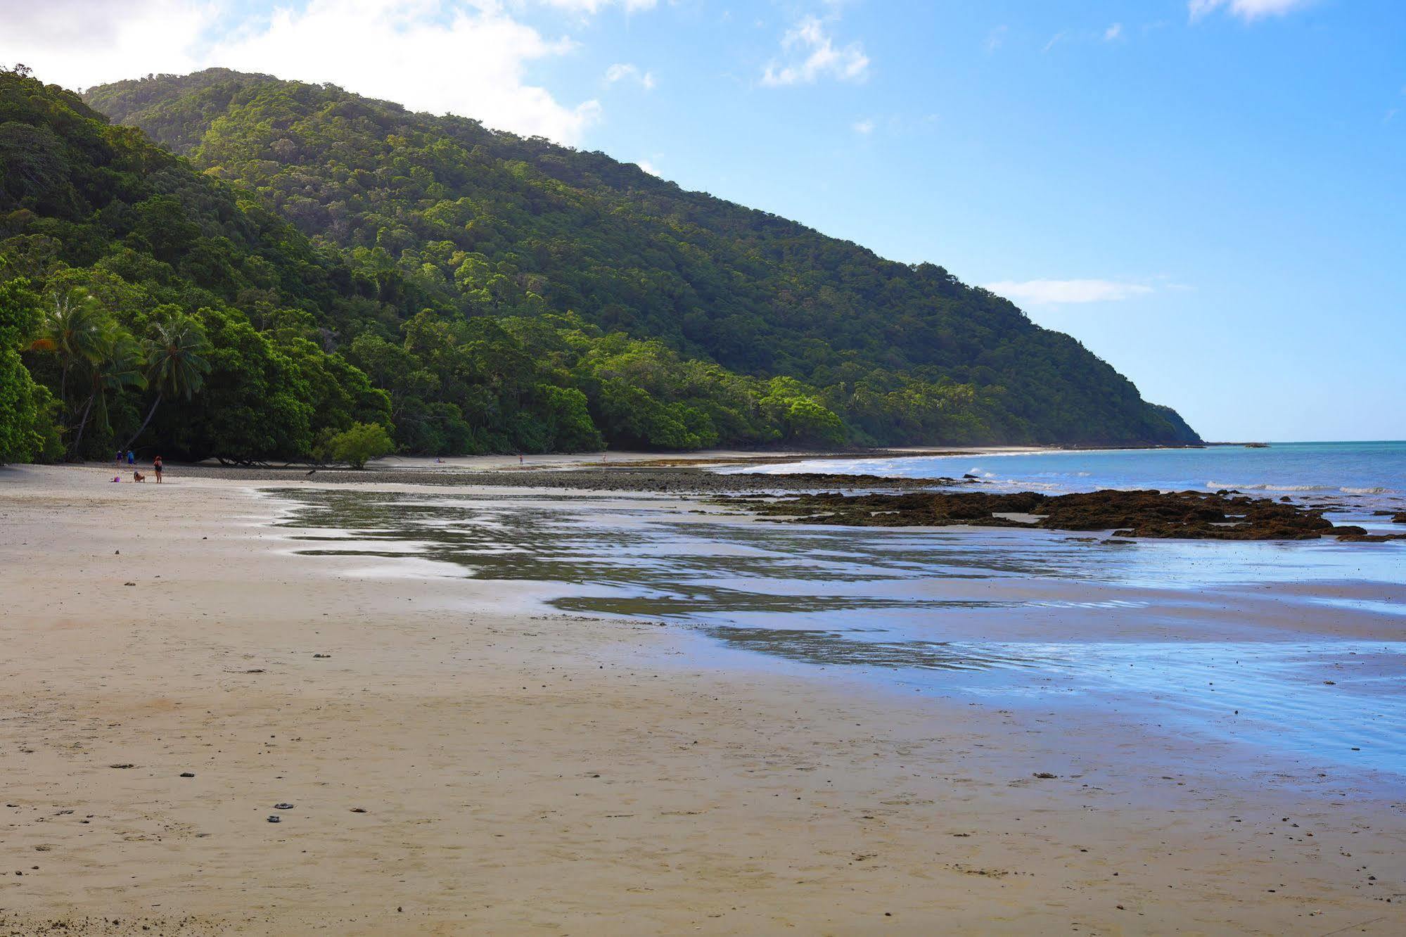
[[1206, 438], [1406, 438], [1406, 3], [35, 6], [0, 62], [46, 80], [219, 63], [541, 132], [990, 286]]

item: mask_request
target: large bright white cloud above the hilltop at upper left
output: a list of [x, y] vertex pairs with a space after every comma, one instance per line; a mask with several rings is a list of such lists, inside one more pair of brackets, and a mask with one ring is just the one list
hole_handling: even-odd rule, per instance
[[[538, 1], [585, 14], [610, 0]], [[529, 83], [530, 63], [575, 44], [544, 37], [498, 0], [304, 0], [243, 20], [231, 18], [228, 0], [0, 3], [0, 62], [24, 62], [37, 77], [69, 87], [219, 65], [332, 82], [565, 144], [579, 142], [600, 113], [595, 100], [565, 104]]]

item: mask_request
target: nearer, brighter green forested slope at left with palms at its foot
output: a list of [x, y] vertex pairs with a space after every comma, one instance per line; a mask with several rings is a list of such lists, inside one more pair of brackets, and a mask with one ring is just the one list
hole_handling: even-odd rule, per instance
[[0, 70], [0, 461], [839, 443], [804, 387], [571, 315], [464, 317]]

